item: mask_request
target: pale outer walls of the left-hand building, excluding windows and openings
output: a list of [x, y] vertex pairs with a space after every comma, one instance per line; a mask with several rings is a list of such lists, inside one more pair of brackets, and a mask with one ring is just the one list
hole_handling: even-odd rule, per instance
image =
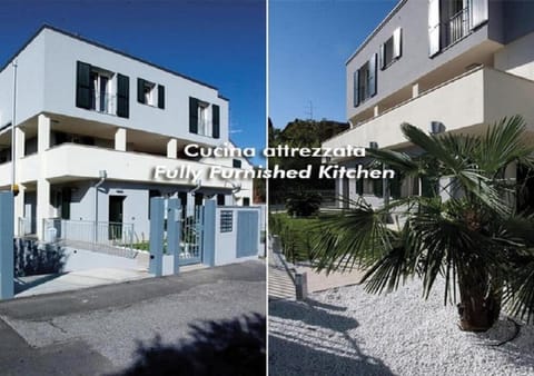
[[[174, 169], [187, 166], [204, 172], [200, 192], [208, 195], [228, 195], [227, 205], [243, 204], [243, 198], [251, 201], [251, 179], [207, 179], [210, 165], [222, 166], [226, 170], [237, 170], [231, 167], [233, 158], [201, 158], [199, 161], [176, 159], [178, 142], [200, 144], [209, 147], [231, 142], [228, 138], [229, 110], [228, 101], [219, 97], [217, 89], [199, 83], [192, 79], [156, 68], [149, 63], [129, 58], [119, 52], [91, 44], [62, 32], [44, 28], [19, 52], [17, 81], [17, 123], [27, 130], [37, 127], [41, 136], [33, 144], [39, 144], [38, 152], [23, 156], [21, 152], [23, 131], [19, 131], [17, 182], [21, 185], [16, 225], [19, 217], [23, 217], [23, 188], [37, 185], [37, 234], [42, 234], [42, 219], [59, 216], [58, 208], [47, 202], [48, 188], [52, 191], [66, 185], [77, 187], [72, 192], [70, 217], [72, 220], [95, 220], [95, 188], [99, 170], [106, 169], [108, 180], [99, 192], [99, 221], [108, 221], [109, 195], [125, 196], [123, 222], [135, 225], [136, 232], [148, 238], [148, 190], [159, 189], [162, 194], [189, 191], [196, 186], [191, 179], [154, 181], [152, 169], [156, 166], [166, 166]], [[129, 117], [120, 118], [116, 115], [102, 113], [76, 106], [77, 90], [77, 61], [89, 63], [113, 73], [121, 73], [129, 78]], [[155, 82], [165, 86], [165, 108], [139, 103], [137, 98], [137, 80]], [[116, 97], [116, 78], [110, 81], [111, 96]], [[13, 103], [13, 68], [8, 65], [0, 72], [0, 128], [12, 119]], [[189, 132], [189, 97], [197, 98], [210, 105], [219, 106], [220, 137], [214, 139]], [[211, 116], [211, 111], [208, 111]], [[55, 115], [71, 119], [76, 125], [77, 119], [85, 120], [85, 127], [90, 127], [89, 121], [99, 122], [119, 129], [115, 149], [105, 149], [97, 146], [89, 147], [76, 144], [63, 144], [50, 148], [50, 123]], [[39, 119], [39, 120], [38, 120]], [[208, 119], [209, 121], [211, 119]], [[48, 125], [48, 130], [43, 125]], [[52, 125], [53, 127], [53, 125]], [[109, 128], [108, 128], [109, 129]], [[47, 131], [46, 131], [47, 130]], [[87, 128], [83, 129], [87, 133]], [[170, 150], [170, 158], [128, 152], [128, 131], [139, 130], [151, 135], [161, 135], [162, 142], [170, 139], [175, 150]], [[2, 132], [7, 132], [4, 129]], [[76, 132], [76, 129], [72, 130]], [[93, 133], [98, 138], [98, 131]], [[30, 137], [33, 137], [30, 135]], [[167, 140], [165, 140], [167, 138]], [[28, 138], [27, 138], [28, 140]], [[176, 141], [178, 140], [178, 141]], [[100, 145], [102, 140], [98, 140]], [[154, 142], [154, 140], [152, 140]], [[30, 142], [31, 144], [31, 142]], [[42, 144], [42, 145], [41, 145]], [[108, 141], [106, 147], [113, 147]], [[165, 147], [165, 144], [164, 144]], [[233, 146], [231, 146], [233, 147]], [[171, 148], [172, 149], [172, 148]], [[241, 169], [249, 169], [251, 165], [245, 158]], [[11, 164], [0, 165], [0, 187], [11, 182]], [[112, 184], [112, 181], [115, 181]], [[229, 195], [233, 187], [240, 186], [241, 190]], [[31, 195], [36, 195], [32, 192]]]

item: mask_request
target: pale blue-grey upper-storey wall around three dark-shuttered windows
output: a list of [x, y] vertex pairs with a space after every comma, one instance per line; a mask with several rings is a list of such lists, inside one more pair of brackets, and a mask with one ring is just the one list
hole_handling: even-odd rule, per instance
[[[46, 46], [43, 111], [212, 146], [228, 141], [228, 102], [218, 97], [217, 90], [53, 30], [44, 29], [42, 37]], [[129, 118], [119, 118], [115, 115], [76, 107], [77, 61], [129, 77]], [[165, 109], [137, 101], [138, 78], [165, 86]], [[47, 90], [47, 88], [50, 89]], [[112, 89], [112, 92], [115, 90], [116, 88]], [[189, 132], [189, 97], [220, 107], [219, 139]]]

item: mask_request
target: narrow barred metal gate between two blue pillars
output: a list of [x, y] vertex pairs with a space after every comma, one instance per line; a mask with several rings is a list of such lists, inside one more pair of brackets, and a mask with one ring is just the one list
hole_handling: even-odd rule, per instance
[[195, 206], [181, 224], [180, 265], [202, 263], [204, 206]]

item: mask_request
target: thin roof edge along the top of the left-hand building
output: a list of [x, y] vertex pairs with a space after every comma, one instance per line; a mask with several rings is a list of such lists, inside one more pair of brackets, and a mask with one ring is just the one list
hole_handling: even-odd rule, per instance
[[[182, 73], [179, 73], [179, 72], [174, 71], [174, 70], [171, 70], [171, 69], [161, 67], [161, 66], [156, 65], [156, 63], [154, 63], [154, 62], [150, 62], [150, 61], [148, 61], [148, 60], [144, 60], [144, 59], [141, 59], [141, 58], [137, 58], [137, 57], [135, 57], [135, 56], [132, 56], [132, 55], [129, 55], [129, 53], [127, 53], [127, 52], [120, 51], [120, 50], [118, 50], [118, 49], [115, 49], [115, 48], [111, 48], [111, 47], [109, 47], [109, 46], [102, 44], [102, 43], [100, 43], [100, 42], [97, 42], [97, 41], [93, 41], [93, 40], [90, 40], [90, 39], [80, 37], [80, 36], [78, 36], [78, 34], [76, 34], [76, 33], [72, 33], [72, 32], [69, 32], [69, 31], [66, 31], [66, 30], [58, 29], [58, 28], [56, 28], [56, 27], [52, 27], [52, 26], [46, 24], [46, 23], [44, 23], [43, 26], [41, 26], [41, 27], [39, 28], [39, 30], [37, 30], [36, 33], [33, 33], [33, 36], [31, 36], [31, 38], [30, 38], [20, 49], [18, 49], [17, 52], [14, 52], [14, 53], [11, 56], [11, 58], [8, 59], [8, 61], [7, 61], [7, 62], [2, 66], [2, 68], [0, 69], [0, 72], [2, 72], [2, 71], [11, 63], [11, 61], [13, 61], [14, 58], [16, 58], [17, 56], [19, 56], [20, 52], [22, 52], [22, 51], [24, 50], [24, 48], [26, 48], [28, 44], [30, 44], [30, 43], [33, 41], [33, 39], [36, 39], [43, 30], [51, 30], [51, 31], [61, 33], [61, 34], [63, 34], [63, 36], [66, 36], [66, 37], [70, 37], [70, 38], [77, 39], [77, 40], [79, 40], [79, 41], [81, 41], [81, 42], [85, 42], [85, 43], [88, 43], [88, 44], [91, 44], [91, 46], [95, 46], [95, 47], [105, 49], [105, 50], [110, 51], [110, 52], [113, 52], [113, 53], [118, 53], [118, 55], [123, 56], [123, 57], [126, 57], [126, 58], [129, 58], [129, 59], [132, 59], [132, 60], [142, 62], [142, 63], [145, 63], [145, 65], [147, 65], [147, 66], [150, 66], [150, 67], [154, 67], [154, 68], [156, 68], [156, 69], [162, 70], [162, 71], [165, 71], [165, 72], [167, 72], [167, 73], [170, 73], [170, 75], [174, 75], [174, 76], [178, 76], [178, 77], [184, 78], [184, 79], [186, 79], [186, 80], [189, 80], [189, 81], [196, 82], [196, 83], [198, 83], [198, 85], [205, 86], [205, 87], [207, 87], [207, 88], [210, 88], [210, 89], [214, 89], [214, 90], [219, 91], [219, 89], [217, 89], [216, 87], [214, 87], [214, 86], [211, 86], [211, 85], [208, 85], [208, 83], [206, 83], [206, 82], [199, 81], [199, 80], [197, 80], [197, 79], [195, 79], [195, 78], [185, 76], [185, 75], [182, 75]], [[219, 97], [220, 99], [222, 99], [222, 100], [228, 101], [228, 98], [225, 98], [225, 97], [222, 97], [221, 95], [218, 95], [218, 97]]]

